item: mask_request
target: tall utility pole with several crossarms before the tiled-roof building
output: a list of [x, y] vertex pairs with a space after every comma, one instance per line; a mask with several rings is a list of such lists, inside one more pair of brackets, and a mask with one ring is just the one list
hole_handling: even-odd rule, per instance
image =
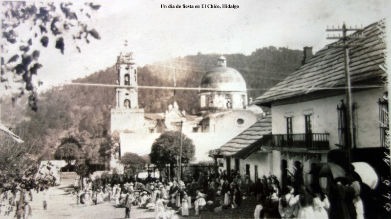
[[352, 101], [351, 101], [351, 84], [350, 84], [350, 72], [349, 72], [349, 48], [353, 47], [360, 47], [363, 46], [363, 44], [348, 44], [349, 39], [361, 39], [363, 38], [362, 36], [347, 36], [348, 31], [362, 31], [362, 28], [346, 28], [345, 22], [342, 25], [342, 29], [339, 28], [334, 28], [334, 26], [329, 29], [327, 27], [326, 31], [329, 32], [341, 32], [342, 31], [342, 37], [338, 34], [338, 37], [335, 37], [334, 35], [332, 37], [328, 37], [326, 39], [342, 39], [343, 44], [337, 44], [337, 45], [330, 45], [328, 48], [343, 48], [344, 49], [344, 57], [345, 57], [345, 95], [347, 99], [347, 126], [348, 126], [348, 168], [349, 171], [350, 169], [350, 164], [351, 164], [351, 149], [353, 148], [353, 121], [352, 121]]

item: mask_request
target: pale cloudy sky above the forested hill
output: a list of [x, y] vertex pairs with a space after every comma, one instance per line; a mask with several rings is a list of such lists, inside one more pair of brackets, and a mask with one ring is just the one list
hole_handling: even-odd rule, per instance
[[[44, 91], [113, 66], [120, 51], [130, 50], [139, 66], [178, 56], [250, 55], [275, 46], [316, 52], [326, 44], [327, 25], [367, 26], [390, 16], [390, 0], [108, 0], [93, 13], [90, 26], [100, 40], [81, 44], [78, 53], [65, 41], [59, 50], [41, 51], [35, 80]], [[235, 4], [239, 8], [161, 8], [165, 5]], [[26, 33], [28, 35], [28, 31]], [[124, 48], [128, 40], [129, 47]], [[50, 47], [50, 46], [49, 46]], [[228, 60], [229, 63], [229, 60]], [[229, 65], [229, 64], [228, 64]]]

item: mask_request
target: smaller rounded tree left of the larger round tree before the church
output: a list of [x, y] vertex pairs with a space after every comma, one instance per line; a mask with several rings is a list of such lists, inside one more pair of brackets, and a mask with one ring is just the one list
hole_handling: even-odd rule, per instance
[[126, 152], [121, 157], [120, 163], [124, 164], [125, 173], [131, 175], [133, 178], [137, 177], [138, 173], [145, 168], [145, 160], [135, 153]]

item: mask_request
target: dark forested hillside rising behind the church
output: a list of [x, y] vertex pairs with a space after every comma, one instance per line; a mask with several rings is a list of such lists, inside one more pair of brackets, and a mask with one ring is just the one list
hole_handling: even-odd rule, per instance
[[[135, 54], [137, 56], [137, 54]], [[217, 67], [218, 54], [197, 54], [158, 62], [138, 69], [138, 84], [197, 88], [202, 75]], [[300, 66], [303, 54], [299, 50], [268, 47], [251, 55], [224, 55], [227, 66], [244, 77], [249, 97], [257, 97]], [[74, 80], [79, 83], [115, 84], [115, 67]], [[197, 91], [139, 89], [139, 107], [145, 112], [164, 112], [174, 99], [181, 110], [198, 110]], [[39, 96], [38, 110], [27, 107], [25, 97], [12, 107], [3, 98], [1, 120], [11, 124], [20, 134], [30, 153], [41, 159], [51, 159], [63, 137], [74, 136], [84, 146], [91, 160], [98, 162], [98, 148], [109, 131], [110, 109], [115, 106], [113, 88], [61, 86]]]

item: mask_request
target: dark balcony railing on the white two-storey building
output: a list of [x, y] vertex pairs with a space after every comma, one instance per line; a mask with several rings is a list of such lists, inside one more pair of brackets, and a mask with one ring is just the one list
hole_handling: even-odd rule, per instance
[[328, 150], [330, 149], [328, 135], [328, 133], [265, 135], [264, 137], [270, 139], [263, 146]]

